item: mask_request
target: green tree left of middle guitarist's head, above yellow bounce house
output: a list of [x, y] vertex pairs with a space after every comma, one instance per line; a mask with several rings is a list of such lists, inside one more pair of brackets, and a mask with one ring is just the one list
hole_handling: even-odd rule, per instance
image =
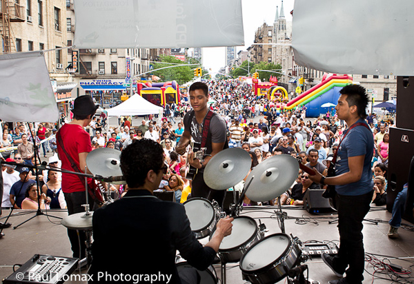
[[[191, 63], [191, 60], [189, 60]], [[177, 64], [186, 64], [186, 62], [183, 62], [179, 59], [176, 59], [175, 57], [161, 57], [161, 62], [163, 63], [175, 63], [175, 64], [163, 64], [163, 63], [152, 63], [152, 69], [159, 69], [159, 68], [165, 68], [167, 66], [173, 66]], [[154, 71], [151, 74], [154, 74], [155, 76], [158, 76], [161, 78], [161, 81], [177, 81], [179, 85], [182, 85], [194, 77], [194, 71], [195, 65], [188, 65], [188, 66], [177, 66], [175, 68], [168, 68], [163, 70]]]

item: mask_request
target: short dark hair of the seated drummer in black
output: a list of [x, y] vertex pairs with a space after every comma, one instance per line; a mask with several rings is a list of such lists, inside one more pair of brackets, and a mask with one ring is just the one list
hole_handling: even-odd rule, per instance
[[132, 142], [121, 152], [121, 171], [128, 187], [144, 185], [150, 170], [159, 172], [164, 166], [164, 150], [150, 139]]

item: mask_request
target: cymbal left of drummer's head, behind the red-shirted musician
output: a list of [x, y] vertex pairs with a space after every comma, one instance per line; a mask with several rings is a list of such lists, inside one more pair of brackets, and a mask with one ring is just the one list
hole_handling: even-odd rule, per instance
[[[92, 174], [100, 176], [121, 176], [119, 159], [121, 151], [111, 148], [98, 148], [86, 156], [86, 165]], [[82, 170], [82, 169], [81, 169]]]

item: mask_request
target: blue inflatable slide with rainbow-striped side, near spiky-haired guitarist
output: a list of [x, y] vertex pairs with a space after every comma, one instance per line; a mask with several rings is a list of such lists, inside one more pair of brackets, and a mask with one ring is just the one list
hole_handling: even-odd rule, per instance
[[346, 74], [324, 74], [322, 82], [314, 85], [311, 89], [302, 93], [299, 97], [292, 99], [284, 105], [285, 110], [292, 110], [296, 107], [306, 107], [306, 117], [317, 117], [319, 114], [326, 114], [332, 108], [322, 108], [324, 103], [337, 104], [339, 91], [344, 86], [352, 84], [352, 77]]

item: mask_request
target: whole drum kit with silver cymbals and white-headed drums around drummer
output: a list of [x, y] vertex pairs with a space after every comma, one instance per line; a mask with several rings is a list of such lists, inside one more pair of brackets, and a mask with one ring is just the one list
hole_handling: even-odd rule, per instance
[[[122, 184], [125, 181], [119, 168], [120, 154], [118, 150], [99, 148], [88, 154], [86, 164], [94, 176], [107, 176], [102, 178], [102, 181]], [[285, 277], [288, 278], [288, 283], [310, 283], [305, 280], [303, 274], [291, 273], [298, 271], [297, 267], [306, 265], [299, 265], [303, 261], [300, 249], [302, 243], [284, 232], [284, 214], [280, 203], [277, 217], [282, 219], [282, 222], [279, 222], [282, 223], [282, 233], [265, 236], [267, 231], [264, 224], [258, 225], [250, 216], [239, 216], [243, 210], [245, 196], [251, 201], [265, 202], [286, 192], [297, 178], [297, 160], [290, 155], [271, 156], [253, 170], [250, 168], [250, 154], [241, 148], [230, 148], [213, 156], [204, 169], [204, 181], [214, 190], [228, 190], [245, 180], [237, 203], [230, 206], [230, 215], [234, 217], [232, 234], [224, 237], [219, 246], [221, 283], [226, 284], [226, 263], [239, 263], [244, 280], [253, 284], [276, 283]], [[110, 192], [107, 193], [106, 203], [113, 201]], [[61, 221], [62, 225], [72, 230], [85, 230], [91, 234], [93, 212], [89, 211], [88, 205], [85, 207], [86, 212], [65, 217]], [[216, 201], [211, 202], [203, 198], [188, 199], [184, 207], [191, 230], [197, 239], [211, 239], [215, 234], [217, 222], [226, 216]], [[177, 270], [189, 266], [179, 254], [176, 257], [176, 265]], [[203, 272], [199, 271], [199, 274], [201, 284], [219, 282], [213, 266]]]

